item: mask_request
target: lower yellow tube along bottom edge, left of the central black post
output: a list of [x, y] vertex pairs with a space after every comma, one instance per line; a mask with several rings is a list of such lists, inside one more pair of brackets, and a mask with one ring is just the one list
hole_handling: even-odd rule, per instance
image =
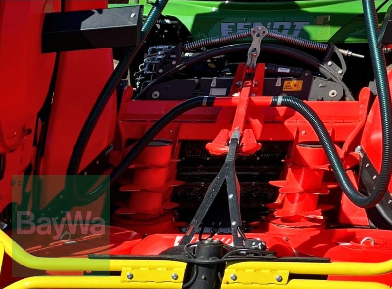
[[121, 282], [119, 276], [37, 276], [17, 281], [4, 289], [36, 288], [138, 288], [138, 289], [181, 289], [174, 282]]

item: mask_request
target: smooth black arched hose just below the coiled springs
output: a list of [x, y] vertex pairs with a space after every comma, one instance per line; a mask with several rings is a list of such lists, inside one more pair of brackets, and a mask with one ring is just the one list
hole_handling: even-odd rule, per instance
[[[167, 79], [168, 77], [174, 75], [177, 72], [180, 72], [181, 70], [190, 67], [200, 61], [220, 56], [223, 54], [230, 54], [230, 53], [238, 53], [238, 52], [244, 52], [247, 51], [250, 47], [250, 44], [234, 44], [234, 45], [228, 45], [220, 48], [214, 48], [211, 50], [208, 50], [206, 52], [200, 53], [196, 56], [193, 56], [191, 58], [188, 58], [178, 64], [177, 66], [173, 67], [171, 70], [168, 70], [167, 72], [162, 73], [159, 77], [151, 81], [144, 89], [142, 89], [136, 96], [134, 96], [133, 99], [140, 99], [146, 92], [147, 90], [154, 84], [162, 82], [164, 79]], [[282, 45], [278, 44], [270, 44], [270, 43], [262, 43], [261, 45], [261, 51], [262, 53], [275, 53], [275, 54], [280, 54], [280, 55], [285, 55], [288, 57], [292, 57], [304, 64], [309, 65], [310, 67], [314, 68], [315, 70], [319, 71], [324, 77], [327, 79], [333, 80], [337, 83], [340, 83], [343, 86], [345, 95], [348, 99], [354, 100], [352, 97], [352, 93], [350, 89], [347, 87], [347, 85], [337, 76], [335, 75], [334, 72], [332, 72], [327, 66], [322, 64], [317, 58], [302, 52], [300, 50], [297, 50], [295, 48], [288, 48]]]

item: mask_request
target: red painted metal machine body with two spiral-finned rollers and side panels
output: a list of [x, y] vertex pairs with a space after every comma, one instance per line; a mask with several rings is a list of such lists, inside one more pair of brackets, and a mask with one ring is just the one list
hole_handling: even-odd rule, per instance
[[[20, 203], [22, 188], [33, 186], [23, 183], [18, 175], [66, 173], [81, 127], [113, 70], [112, 51], [108, 48], [42, 54], [38, 49], [43, 13], [60, 11], [60, 1], [18, 2], [0, 2], [3, 91], [0, 152], [5, 164], [0, 178], [0, 212], [11, 202]], [[105, 6], [103, 0], [66, 1], [63, 9]], [[13, 18], [16, 11], [18, 18]], [[53, 76], [55, 67], [57, 73]], [[271, 97], [262, 95], [264, 71], [263, 63], [255, 68], [239, 64], [230, 92], [232, 97], [217, 97], [213, 107], [194, 109], [167, 125], [122, 176], [118, 190], [111, 192], [111, 199], [118, 207], [111, 217], [110, 244], [102, 249], [94, 238], [79, 239], [73, 245], [72, 254], [157, 255], [178, 245], [183, 235], [178, 227], [186, 223], [176, 220], [174, 209], [178, 204], [172, 200], [172, 192], [184, 184], [176, 178], [181, 145], [185, 141], [202, 141], [211, 155], [223, 155], [228, 151], [227, 142], [232, 133], [239, 129], [239, 155], [253, 154], [264, 142], [290, 144], [287, 157], [282, 160], [284, 169], [280, 178], [270, 182], [279, 188], [279, 194], [275, 202], [266, 205], [271, 211], [249, 224], [252, 230], [246, 233], [248, 238], [266, 241], [278, 256], [359, 262], [389, 260], [391, 231], [371, 229], [366, 210], [355, 206], [342, 193], [310, 124], [294, 110], [270, 107]], [[388, 79], [392, 91], [392, 71]], [[235, 85], [238, 81], [241, 86]], [[48, 94], [53, 99], [45, 106]], [[133, 88], [126, 87], [118, 110], [116, 97], [111, 98], [89, 141], [81, 167], [94, 162], [110, 145], [114, 147], [110, 164], [117, 165], [132, 147], [129, 144], [142, 138], [154, 122], [181, 102], [132, 100], [132, 96]], [[355, 184], [358, 184], [355, 168], [361, 159], [355, 152], [357, 146], [366, 151], [380, 170], [381, 124], [377, 101], [377, 98], [372, 100], [368, 87], [361, 90], [357, 101], [307, 101], [326, 125]], [[37, 152], [38, 146], [43, 150]], [[19, 186], [19, 191], [14, 186]], [[53, 184], [45, 181], [42, 186], [53, 188]], [[64, 183], [59, 182], [55, 187], [58, 191], [41, 197], [41, 207], [49, 203]], [[392, 182], [389, 191], [392, 192]], [[15, 192], [19, 193], [15, 195]], [[103, 210], [104, 199], [102, 196], [89, 205], [97, 215]], [[332, 223], [328, 219], [331, 214], [337, 216]], [[232, 243], [230, 235], [219, 233], [214, 238]], [[69, 247], [59, 241], [26, 249], [37, 256], [67, 253], [59, 248], [68, 252]], [[5, 270], [6, 265], [1, 276], [9, 274]], [[392, 274], [376, 278], [345, 276], [344, 279], [391, 285]], [[1, 281], [7, 283], [10, 279], [2, 277]]]

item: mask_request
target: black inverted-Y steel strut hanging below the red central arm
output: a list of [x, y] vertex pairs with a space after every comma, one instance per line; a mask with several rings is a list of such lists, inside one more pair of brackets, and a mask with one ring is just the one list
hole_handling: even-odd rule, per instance
[[204, 217], [207, 215], [208, 211], [211, 209], [213, 201], [216, 199], [217, 195], [222, 191], [224, 183], [226, 183], [227, 189], [227, 199], [229, 203], [230, 212], [230, 225], [231, 234], [233, 236], [233, 243], [236, 247], [243, 247], [245, 244], [245, 238], [242, 236], [241, 231], [241, 213], [240, 213], [240, 185], [237, 180], [236, 170], [235, 170], [235, 157], [237, 146], [240, 141], [240, 132], [235, 130], [231, 136], [229, 142], [229, 150], [226, 156], [226, 160], [219, 171], [218, 175], [211, 182], [201, 202], [195, 217], [193, 217], [187, 232], [181, 239], [180, 245], [188, 244], [195, 233], [199, 231], [204, 225], [202, 224]]

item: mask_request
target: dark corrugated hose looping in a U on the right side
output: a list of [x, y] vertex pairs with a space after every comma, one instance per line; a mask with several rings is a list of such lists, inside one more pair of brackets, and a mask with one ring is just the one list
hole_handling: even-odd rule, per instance
[[335, 174], [339, 185], [347, 197], [358, 207], [371, 208], [374, 207], [384, 197], [388, 190], [388, 184], [391, 178], [392, 171], [392, 125], [391, 125], [391, 96], [388, 87], [388, 78], [386, 72], [386, 65], [384, 54], [380, 48], [377, 47], [378, 39], [378, 19], [374, 7], [374, 1], [362, 1], [364, 7], [366, 30], [368, 33], [368, 40], [370, 46], [370, 55], [373, 64], [373, 71], [376, 78], [377, 92], [380, 105], [381, 114], [381, 129], [382, 129], [382, 162], [380, 175], [376, 188], [373, 192], [368, 192], [368, 196], [360, 193], [348, 178], [342, 161], [339, 158], [338, 152], [334, 143], [329, 136], [329, 133], [320, 120], [319, 116], [303, 101], [293, 96], [273, 96], [271, 106], [285, 106], [290, 107], [309, 121], [317, 136], [319, 137], [321, 145], [324, 147], [331, 168]]

